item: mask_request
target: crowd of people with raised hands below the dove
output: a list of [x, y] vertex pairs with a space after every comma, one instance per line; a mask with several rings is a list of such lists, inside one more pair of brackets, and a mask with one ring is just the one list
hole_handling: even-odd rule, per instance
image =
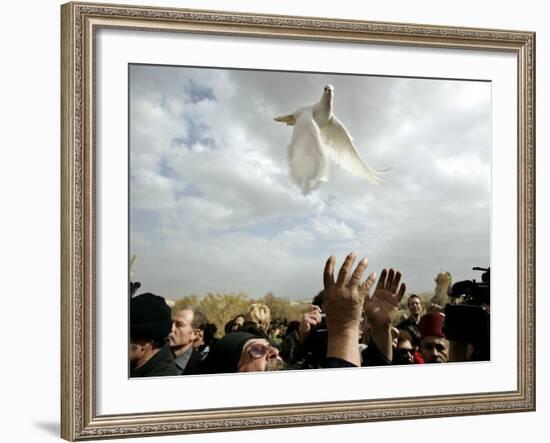
[[[407, 299], [401, 273], [384, 269], [363, 277], [349, 254], [335, 276], [335, 257], [323, 271], [324, 289], [299, 321], [273, 322], [269, 307], [253, 303], [216, 337], [217, 328], [196, 306], [144, 293], [130, 299], [131, 377], [447, 363], [487, 358], [477, 345], [446, 334], [445, 314], [425, 312], [419, 296]], [[469, 325], [464, 325], [467, 328]], [[488, 334], [488, 331], [487, 331]], [[488, 341], [488, 337], [487, 340]]]

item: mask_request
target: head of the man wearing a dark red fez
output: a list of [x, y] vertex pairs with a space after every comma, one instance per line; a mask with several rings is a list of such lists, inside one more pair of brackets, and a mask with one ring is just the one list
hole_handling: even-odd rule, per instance
[[440, 313], [426, 314], [420, 320], [420, 352], [426, 363], [449, 361], [449, 340], [443, 333], [445, 316]]

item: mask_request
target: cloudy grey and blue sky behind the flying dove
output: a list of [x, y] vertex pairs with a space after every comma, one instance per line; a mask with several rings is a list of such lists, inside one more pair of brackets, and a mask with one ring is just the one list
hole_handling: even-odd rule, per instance
[[[273, 121], [335, 88], [334, 112], [382, 186], [332, 163], [307, 196]], [[400, 269], [408, 292], [489, 266], [491, 86], [477, 81], [132, 65], [130, 254], [168, 298], [309, 299], [326, 258]], [[478, 273], [477, 273], [478, 274]]]

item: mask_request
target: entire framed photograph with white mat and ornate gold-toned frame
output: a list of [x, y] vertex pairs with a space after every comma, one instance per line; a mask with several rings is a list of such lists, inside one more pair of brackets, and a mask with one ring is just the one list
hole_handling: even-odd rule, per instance
[[535, 409], [534, 33], [61, 18], [63, 438]]

